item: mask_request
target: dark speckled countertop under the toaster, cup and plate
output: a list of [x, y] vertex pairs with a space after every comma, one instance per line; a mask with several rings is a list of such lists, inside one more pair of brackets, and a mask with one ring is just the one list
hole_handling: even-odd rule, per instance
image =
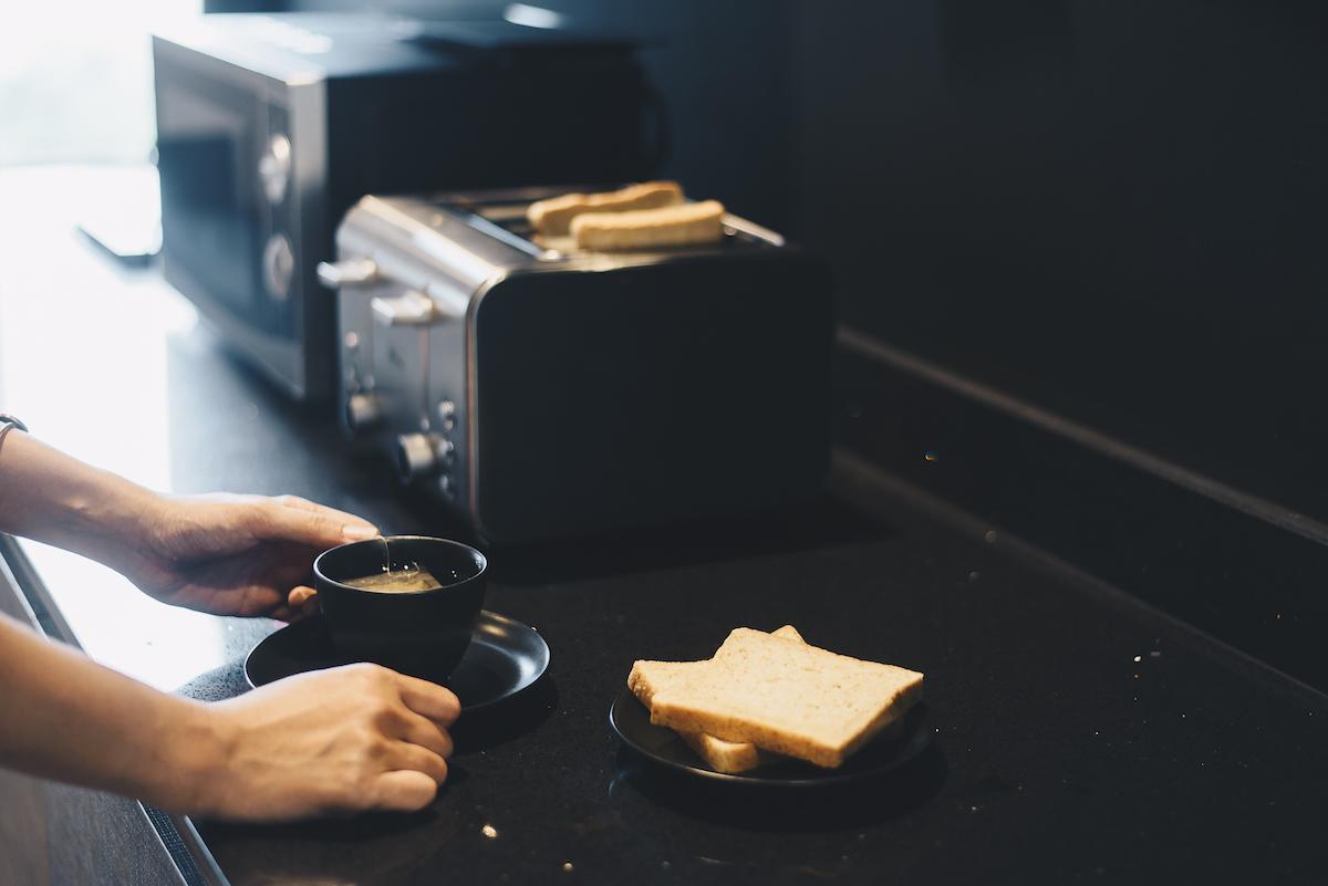
[[[388, 531], [456, 532], [234, 363], [151, 272], [81, 248], [80, 187], [0, 175], [0, 204], [32, 207], [0, 219], [7, 410], [158, 488], [293, 492]], [[854, 464], [798, 515], [499, 552], [487, 607], [548, 641], [551, 707], [473, 736], [425, 813], [195, 822], [207, 850], [235, 886], [1328, 875], [1324, 696]], [[239, 691], [244, 653], [276, 626], [171, 610], [78, 557], [24, 552], [89, 654], [167, 690]], [[932, 749], [871, 792], [789, 800], [661, 779], [618, 747], [607, 711], [632, 659], [699, 658], [733, 626], [785, 622], [926, 671]]]

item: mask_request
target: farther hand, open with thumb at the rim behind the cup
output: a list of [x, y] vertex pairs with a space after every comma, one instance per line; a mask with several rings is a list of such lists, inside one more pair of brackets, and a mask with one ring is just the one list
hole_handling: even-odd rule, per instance
[[141, 590], [187, 609], [283, 621], [308, 613], [319, 553], [378, 535], [295, 496], [163, 496], [142, 523], [121, 569]]

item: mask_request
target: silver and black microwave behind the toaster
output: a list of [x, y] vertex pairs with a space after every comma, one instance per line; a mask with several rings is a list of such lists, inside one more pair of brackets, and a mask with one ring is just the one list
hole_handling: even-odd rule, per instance
[[336, 387], [313, 269], [360, 196], [641, 178], [629, 41], [505, 20], [205, 16], [155, 34], [166, 279], [299, 398]]

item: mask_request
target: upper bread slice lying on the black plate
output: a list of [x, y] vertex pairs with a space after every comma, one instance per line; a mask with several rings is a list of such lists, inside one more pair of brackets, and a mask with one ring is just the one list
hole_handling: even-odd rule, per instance
[[708, 662], [680, 662], [651, 723], [835, 768], [922, 698], [923, 675], [738, 627]]

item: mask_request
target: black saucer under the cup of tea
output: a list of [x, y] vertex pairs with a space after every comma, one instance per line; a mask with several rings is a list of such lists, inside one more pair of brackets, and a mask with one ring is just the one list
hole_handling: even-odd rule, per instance
[[[283, 676], [347, 664], [337, 655], [321, 615], [287, 625], [263, 639], [244, 659], [244, 679], [258, 687]], [[530, 688], [548, 668], [548, 643], [533, 627], [497, 613], [479, 623], [448, 687], [465, 711], [510, 699]]]

